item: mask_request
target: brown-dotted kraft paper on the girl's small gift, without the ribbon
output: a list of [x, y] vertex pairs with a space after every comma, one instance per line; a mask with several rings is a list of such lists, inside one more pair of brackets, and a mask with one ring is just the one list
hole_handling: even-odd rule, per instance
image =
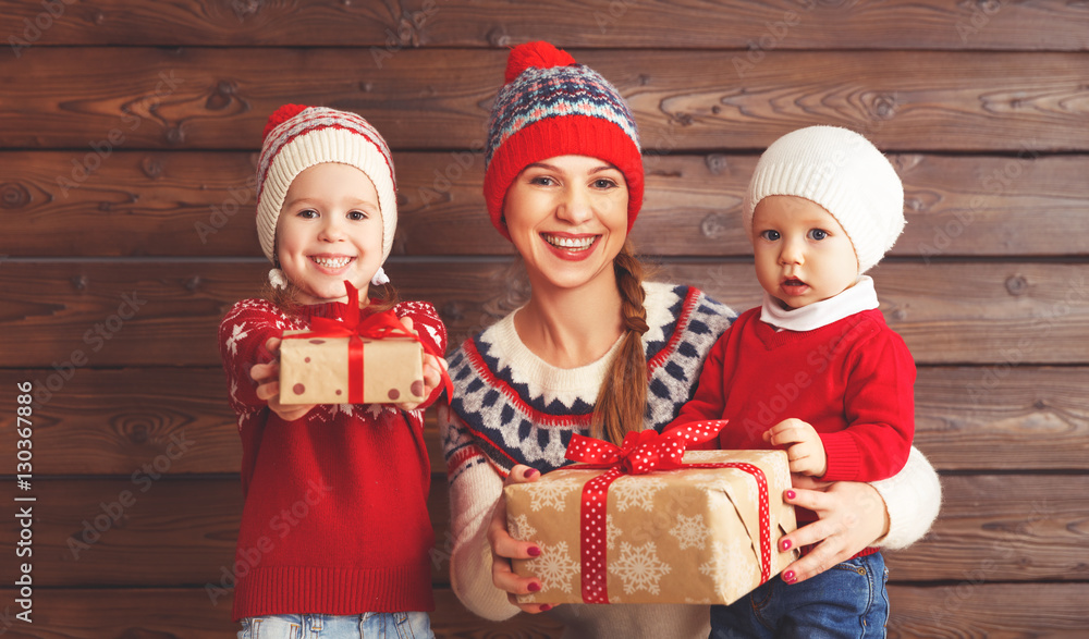
[[[284, 336], [307, 331], [284, 331]], [[424, 401], [424, 349], [411, 339], [363, 339], [363, 398], [348, 397], [348, 339], [283, 340], [281, 404]]]

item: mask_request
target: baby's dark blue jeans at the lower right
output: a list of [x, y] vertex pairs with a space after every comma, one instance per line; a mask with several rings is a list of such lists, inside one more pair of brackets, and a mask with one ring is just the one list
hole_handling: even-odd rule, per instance
[[774, 577], [730, 605], [712, 605], [710, 639], [884, 637], [888, 581], [881, 553], [848, 560], [794, 586]]

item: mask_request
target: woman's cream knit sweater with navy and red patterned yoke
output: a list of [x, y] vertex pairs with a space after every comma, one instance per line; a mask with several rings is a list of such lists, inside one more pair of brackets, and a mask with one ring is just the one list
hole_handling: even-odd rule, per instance
[[[708, 351], [734, 314], [696, 288], [661, 283], [644, 288], [650, 325], [643, 336], [649, 372], [644, 428], [660, 430], [692, 397]], [[450, 407], [439, 406], [439, 425], [454, 537], [451, 583], [474, 613], [489, 619], [517, 614], [491, 581], [487, 527], [503, 478], [514, 464], [541, 471], [566, 464], [566, 444], [572, 433], [588, 432], [598, 389], [617, 346], [587, 366], [559, 369], [525, 346], [511, 314], [448, 358], [454, 400]], [[890, 513], [885, 546], [907, 545], [926, 532], [941, 491], [921, 455], [913, 454], [886, 488], [874, 487]], [[708, 609], [700, 605], [565, 604], [546, 614], [564, 624], [565, 637], [702, 639], [710, 631]]]

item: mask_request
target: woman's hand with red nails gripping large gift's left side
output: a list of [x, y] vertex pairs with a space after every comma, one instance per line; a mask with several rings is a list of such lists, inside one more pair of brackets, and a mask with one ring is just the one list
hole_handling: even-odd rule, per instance
[[[526, 483], [540, 479], [536, 468], [522, 466], [511, 469], [503, 486]], [[540, 554], [541, 549], [530, 541], [518, 541], [506, 530], [506, 499], [500, 495], [495, 509], [491, 513], [491, 524], [488, 525], [488, 543], [491, 544], [491, 580], [495, 588], [505, 591], [510, 602], [523, 612], [537, 614], [551, 610], [550, 604], [518, 603], [518, 594], [529, 594], [541, 589], [539, 579], [518, 577], [511, 567], [511, 560], [530, 560]]]

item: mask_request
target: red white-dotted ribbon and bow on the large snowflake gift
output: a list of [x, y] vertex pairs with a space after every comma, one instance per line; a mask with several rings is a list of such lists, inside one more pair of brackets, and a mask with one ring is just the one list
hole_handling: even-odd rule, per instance
[[718, 437], [726, 420], [699, 421], [677, 427], [665, 434], [656, 430], [629, 432], [617, 447], [611, 442], [575, 434], [567, 444], [566, 457], [583, 462], [578, 468], [603, 468], [605, 472], [583, 486], [579, 530], [583, 601], [609, 603], [605, 577], [605, 503], [609, 486], [623, 475], [645, 475], [677, 468], [737, 468], [756, 480], [760, 499], [760, 582], [771, 577], [771, 517], [768, 506], [768, 479], [758, 466], [745, 463], [685, 464], [689, 444], [700, 444]]

